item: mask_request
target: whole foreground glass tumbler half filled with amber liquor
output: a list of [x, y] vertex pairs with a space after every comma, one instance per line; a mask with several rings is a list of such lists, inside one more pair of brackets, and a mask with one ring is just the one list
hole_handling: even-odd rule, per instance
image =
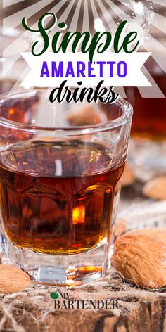
[[109, 272], [132, 106], [108, 107], [109, 121], [99, 104], [50, 103], [42, 89], [1, 97], [1, 260], [37, 283]]

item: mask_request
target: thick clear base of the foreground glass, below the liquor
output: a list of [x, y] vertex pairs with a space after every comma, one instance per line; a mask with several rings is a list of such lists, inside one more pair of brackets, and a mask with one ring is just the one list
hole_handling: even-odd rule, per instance
[[[27, 272], [34, 283], [53, 286], [79, 286], [98, 281], [106, 275], [108, 257], [107, 239], [85, 253], [77, 255], [44, 255], [26, 248], [17, 248], [2, 238], [2, 264], [12, 264]], [[107, 259], [106, 259], [107, 257]]]

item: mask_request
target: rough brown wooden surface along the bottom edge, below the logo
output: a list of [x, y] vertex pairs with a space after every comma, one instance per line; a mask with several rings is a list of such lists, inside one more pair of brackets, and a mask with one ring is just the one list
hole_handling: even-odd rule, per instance
[[[23, 318], [25, 310], [27, 316]], [[9, 318], [0, 331], [15, 331]], [[34, 307], [23, 308], [20, 303], [15, 309], [15, 321], [24, 327], [16, 328], [17, 332], [166, 332], [166, 300], [142, 303], [139, 309], [123, 317], [115, 317], [109, 310], [84, 310], [84, 314], [80, 310], [56, 310], [45, 319], [39, 308], [34, 314]]]

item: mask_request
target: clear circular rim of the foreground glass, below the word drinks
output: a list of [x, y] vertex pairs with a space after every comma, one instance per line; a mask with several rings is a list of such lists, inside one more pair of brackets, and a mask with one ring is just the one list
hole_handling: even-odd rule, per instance
[[[35, 89], [20, 89], [18, 91], [12, 91], [8, 92], [5, 94], [0, 94], [0, 103], [1, 101], [5, 101], [9, 98], [12, 98], [16, 95], [22, 95], [23, 94], [34, 94], [34, 92], [37, 91], [46, 91], [48, 88], [35, 88]], [[115, 129], [115, 127], [120, 127], [122, 125], [125, 125], [127, 122], [132, 117], [133, 114], [133, 107], [132, 105], [128, 102], [125, 101], [121, 96], [115, 101], [115, 104], [120, 106], [122, 109], [123, 113], [120, 115], [120, 117], [117, 117], [116, 119], [106, 121], [106, 122], [101, 122], [98, 124], [94, 125], [84, 125], [84, 126], [73, 126], [73, 127], [42, 127], [42, 126], [37, 126], [37, 125], [31, 125], [31, 124], [23, 124], [21, 122], [15, 122], [12, 120], [7, 120], [5, 117], [0, 116], [0, 125], [11, 128], [11, 129], [20, 129], [20, 130], [25, 130], [26, 132], [31, 132], [31, 131], [37, 131], [37, 132], [78, 132], [80, 134], [91, 134], [91, 132], [100, 132], [106, 129]], [[110, 104], [111, 106], [112, 104]], [[113, 103], [114, 105], [114, 103]], [[0, 105], [1, 106], [1, 105]]]

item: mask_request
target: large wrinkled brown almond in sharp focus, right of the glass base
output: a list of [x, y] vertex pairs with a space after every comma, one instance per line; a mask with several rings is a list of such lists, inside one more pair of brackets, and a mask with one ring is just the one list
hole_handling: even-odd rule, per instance
[[166, 269], [157, 254], [148, 236], [120, 236], [115, 241], [113, 267], [136, 286], [160, 288], [166, 284]]

